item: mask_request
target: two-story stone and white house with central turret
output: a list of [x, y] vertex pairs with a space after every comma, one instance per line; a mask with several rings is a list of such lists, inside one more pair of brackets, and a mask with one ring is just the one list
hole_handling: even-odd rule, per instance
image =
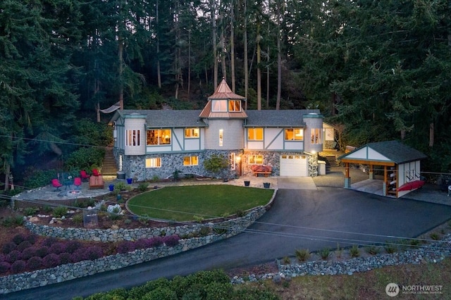
[[319, 110], [245, 111], [245, 101], [223, 80], [202, 111], [116, 111], [118, 169], [137, 181], [175, 170], [212, 176], [203, 162], [222, 154], [230, 165], [221, 177], [251, 175], [252, 165], [271, 166], [273, 176], [307, 176], [308, 156], [323, 149]]

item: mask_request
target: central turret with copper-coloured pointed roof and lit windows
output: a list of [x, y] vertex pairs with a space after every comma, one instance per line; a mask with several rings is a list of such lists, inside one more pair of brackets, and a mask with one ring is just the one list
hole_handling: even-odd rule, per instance
[[246, 98], [232, 92], [225, 79], [218, 85], [199, 118], [208, 128], [205, 130], [205, 148], [234, 150], [244, 147], [243, 123], [247, 114], [243, 109]]

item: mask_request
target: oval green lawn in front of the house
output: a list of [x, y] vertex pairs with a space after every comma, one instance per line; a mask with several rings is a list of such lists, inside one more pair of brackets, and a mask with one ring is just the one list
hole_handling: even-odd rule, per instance
[[190, 221], [194, 216], [219, 218], [265, 206], [273, 192], [273, 189], [233, 185], [164, 187], [133, 197], [128, 201], [128, 209], [136, 215], [164, 220]]

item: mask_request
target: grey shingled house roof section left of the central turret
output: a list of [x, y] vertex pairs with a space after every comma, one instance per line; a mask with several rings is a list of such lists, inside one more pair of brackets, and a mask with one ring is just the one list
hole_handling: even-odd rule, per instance
[[[206, 127], [206, 124], [199, 118], [199, 110], [132, 110], [127, 109], [117, 111], [121, 116], [125, 115], [146, 115], [147, 127]], [[118, 118], [115, 115], [114, 118]]]

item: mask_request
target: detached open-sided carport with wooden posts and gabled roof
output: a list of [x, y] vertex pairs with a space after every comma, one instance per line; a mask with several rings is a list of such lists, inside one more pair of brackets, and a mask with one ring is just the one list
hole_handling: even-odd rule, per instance
[[[421, 179], [420, 161], [425, 154], [398, 141], [370, 143], [338, 159], [345, 163], [345, 188], [351, 188], [350, 164], [369, 165], [369, 179], [374, 181], [374, 168], [383, 169], [383, 180], [376, 194], [399, 198], [424, 185]], [[374, 191], [373, 191], [374, 192]]]

